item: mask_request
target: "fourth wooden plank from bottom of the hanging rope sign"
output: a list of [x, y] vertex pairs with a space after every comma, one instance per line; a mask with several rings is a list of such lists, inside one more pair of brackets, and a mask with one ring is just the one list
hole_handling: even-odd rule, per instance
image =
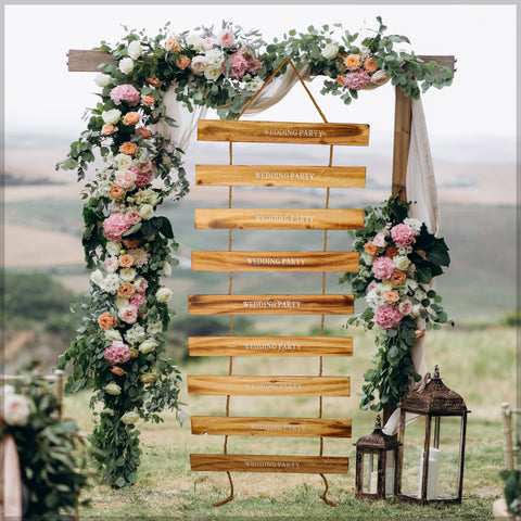
[[352, 356], [351, 336], [189, 336], [190, 356]]

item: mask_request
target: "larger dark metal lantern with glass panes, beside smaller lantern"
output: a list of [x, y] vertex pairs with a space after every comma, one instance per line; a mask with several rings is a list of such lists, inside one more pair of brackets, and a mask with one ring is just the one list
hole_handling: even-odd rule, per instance
[[[398, 405], [398, 496], [429, 503], [461, 503], [467, 409], [463, 398], [428, 373]], [[410, 415], [416, 417], [410, 420]], [[406, 424], [407, 423], [407, 424]]]

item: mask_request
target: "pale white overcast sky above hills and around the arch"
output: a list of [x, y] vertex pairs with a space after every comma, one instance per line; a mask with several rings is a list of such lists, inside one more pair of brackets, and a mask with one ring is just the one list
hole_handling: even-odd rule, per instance
[[[97, 101], [96, 73], [68, 73], [68, 49], [91, 49], [101, 40], [116, 42], [122, 25], [144, 28], [150, 36], [166, 22], [173, 34], [223, 20], [258, 28], [271, 41], [291, 28], [342, 22], [352, 33], [376, 27], [381, 15], [389, 33], [408, 36], [417, 54], [454, 54], [453, 86], [422, 97], [434, 140], [468, 143], [501, 139], [516, 132], [516, 5], [360, 5], [360, 4], [126, 4], [5, 5], [7, 132], [56, 132], [75, 139], [85, 126], [81, 114]], [[319, 82], [314, 81], [314, 92]], [[320, 97], [331, 122], [369, 123], [373, 132], [391, 136], [394, 117], [391, 86], [363, 92], [345, 106]], [[288, 119], [304, 120], [310, 104], [302, 98], [277, 109]], [[264, 117], [263, 117], [264, 118]], [[281, 117], [282, 119], [285, 117]], [[513, 150], [513, 149], [512, 149]]]

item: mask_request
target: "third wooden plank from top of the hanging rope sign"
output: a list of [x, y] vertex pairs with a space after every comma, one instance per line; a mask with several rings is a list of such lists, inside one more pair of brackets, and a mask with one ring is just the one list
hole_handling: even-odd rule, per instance
[[195, 208], [198, 229], [360, 230], [364, 209]]

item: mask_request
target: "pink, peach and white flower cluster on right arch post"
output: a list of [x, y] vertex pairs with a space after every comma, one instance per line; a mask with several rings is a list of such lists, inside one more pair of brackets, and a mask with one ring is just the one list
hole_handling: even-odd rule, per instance
[[[423, 223], [407, 217], [409, 206], [395, 198], [369, 206], [364, 229], [351, 232], [360, 268], [344, 274], [341, 282], [350, 281], [355, 298], [365, 298], [367, 307], [347, 323], [382, 331], [376, 339], [377, 367], [364, 376], [363, 409], [396, 406], [409, 392], [411, 379], [420, 379], [410, 357], [418, 319], [424, 320], [427, 330], [453, 323], [440, 305], [442, 297], [428, 288], [443, 274], [442, 266], [449, 265], [448, 247]], [[377, 391], [379, 402], [373, 404]]]

